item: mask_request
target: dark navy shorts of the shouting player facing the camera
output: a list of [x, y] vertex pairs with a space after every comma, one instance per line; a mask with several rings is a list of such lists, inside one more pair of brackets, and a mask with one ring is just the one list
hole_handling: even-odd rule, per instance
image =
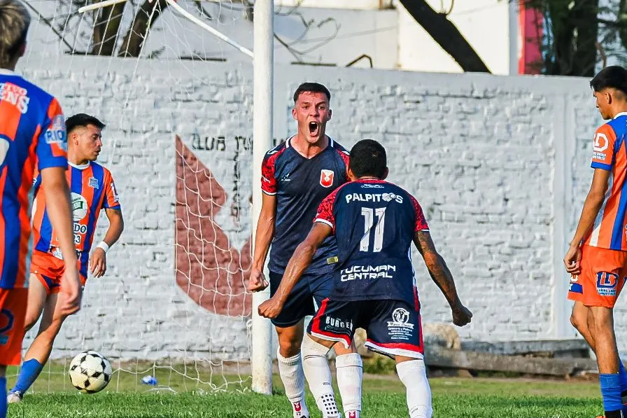
[[[270, 272], [269, 278], [270, 297], [272, 298], [274, 293], [276, 293], [276, 289], [279, 288], [279, 284], [281, 284], [283, 274]], [[283, 305], [281, 314], [272, 319], [272, 323], [279, 328], [287, 328], [288, 326], [296, 325], [305, 316], [315, 314], [314, 299], [319, 307], [322, 301], [330, 295], [332, 286], [333, 277], [331, 272], [322, 276], [303, 274], [288, 296], [286, 304]]]

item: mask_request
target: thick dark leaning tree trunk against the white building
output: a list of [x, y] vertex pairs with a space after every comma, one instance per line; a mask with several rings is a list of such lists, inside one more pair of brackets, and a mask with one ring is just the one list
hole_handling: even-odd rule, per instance
[[446, 53], [453, 57], [453, 60], [464, 71], [491, 72], [459, 29], [446, 18], [446, 15], [437, 13], [425, 0], [400, 0], [400, 2], [414, 20], [430, 34], [434, 41], [439, 43], [439, 46], [442, 46]]

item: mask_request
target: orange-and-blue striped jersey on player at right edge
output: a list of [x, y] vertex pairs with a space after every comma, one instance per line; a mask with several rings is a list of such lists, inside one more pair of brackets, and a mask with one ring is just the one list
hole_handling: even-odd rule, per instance
[[627, 251], [627, 113], [596, 130], [591, 167], [611, 172], [605, 200], [584, 243]]

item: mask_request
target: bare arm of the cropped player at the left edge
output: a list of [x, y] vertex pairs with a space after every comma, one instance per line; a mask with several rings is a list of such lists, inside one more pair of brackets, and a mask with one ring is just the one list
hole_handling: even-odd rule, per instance
[[[80, 279], [74, 250], [74, 233], [70, 190], [65, 178], [65, 167], [48, 167], [41, 170], [41, 186], [45, 198], [45, 209], [55, 229], [65, 264], [62, 281], [61, 315], [71, 315], [80, 309]], [[55, 312], [57, 314], [57, 312]]]

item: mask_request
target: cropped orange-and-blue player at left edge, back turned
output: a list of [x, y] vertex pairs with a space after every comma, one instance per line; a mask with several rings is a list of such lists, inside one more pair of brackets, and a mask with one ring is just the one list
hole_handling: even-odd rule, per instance
[[57, 99], [13, 72], [24, 55], [30, 15], [17, 0], [0, 0], [0, 418], [6, 417], [6, 366], [20, 364], [27, 311], [29, 192], [41, 172], [50, 222], [66, 257], [59, 314], [80, 308], [73, 251], [66, 132]]

